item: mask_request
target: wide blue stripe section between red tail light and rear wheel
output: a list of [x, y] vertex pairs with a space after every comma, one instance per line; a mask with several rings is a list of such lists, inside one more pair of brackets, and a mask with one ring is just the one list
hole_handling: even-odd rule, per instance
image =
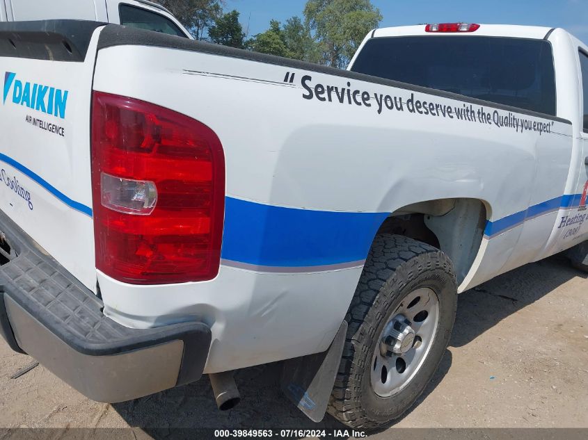
[[327, 266], [364, 260], [388, 213], [284, 208], [225, 197], [222, 258], [255, 266]]

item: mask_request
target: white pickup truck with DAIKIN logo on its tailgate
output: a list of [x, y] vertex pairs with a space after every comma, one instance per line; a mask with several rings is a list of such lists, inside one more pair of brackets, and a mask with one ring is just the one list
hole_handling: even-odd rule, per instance
[[382, 28], [340, 71], [9, 22], [0, 67], [1, 333], [94, 400], [205, 373], [228, 409], [232, 371], [285, 361], [310, 418], [376, 427], [457, 293], [588, 268], [588, 46], [560, 28]]

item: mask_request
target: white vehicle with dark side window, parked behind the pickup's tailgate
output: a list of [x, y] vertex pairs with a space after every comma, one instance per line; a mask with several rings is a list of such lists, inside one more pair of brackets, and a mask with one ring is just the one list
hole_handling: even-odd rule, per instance
[[122, 24], [178, 37], [189, 31], [163, 6], [147, 0], [6, 0], [0, 2], [0, 22], [77, 19]]

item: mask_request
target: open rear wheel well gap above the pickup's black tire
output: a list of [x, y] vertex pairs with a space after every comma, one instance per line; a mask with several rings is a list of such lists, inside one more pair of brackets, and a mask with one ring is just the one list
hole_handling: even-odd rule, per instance
[[478, 199], [429, 200], [394, 211], [378, 234], [398, 234], [442, 250], [454, 263], [461, 284], [482, 243], [486, 211]]

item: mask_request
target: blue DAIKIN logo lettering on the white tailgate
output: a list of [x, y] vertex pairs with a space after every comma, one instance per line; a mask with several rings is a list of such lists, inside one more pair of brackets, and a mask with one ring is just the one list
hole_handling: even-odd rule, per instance
[[[12, 95], [9, 97], [10, 90]], [[20, 81], [13, 72], [4, 74], [4, 105], [6, 105], [6, 99], [10, 99], [14, 104], [65, 119], [68, 94], [67, 90], [49, 87], [49, 85]]]

